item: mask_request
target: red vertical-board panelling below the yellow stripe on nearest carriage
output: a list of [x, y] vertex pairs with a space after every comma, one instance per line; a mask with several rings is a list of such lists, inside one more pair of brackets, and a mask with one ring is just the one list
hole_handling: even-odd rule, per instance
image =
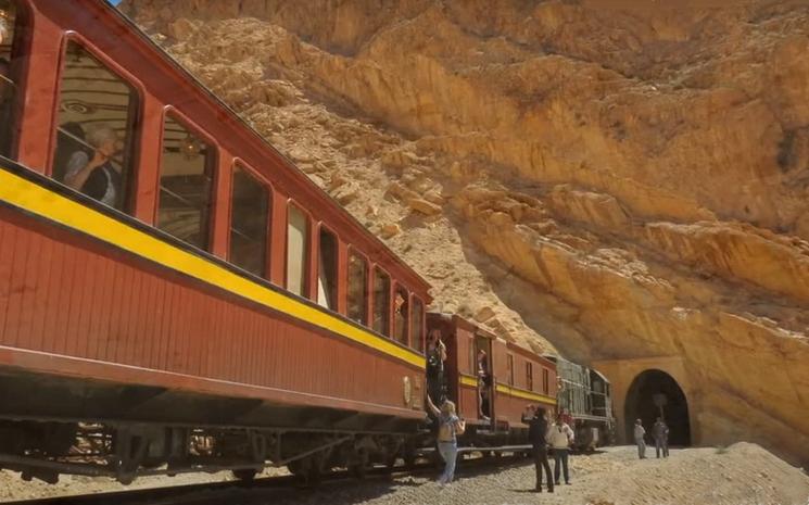
[[395, 408], [403, 377], [421, 376], [14, 211], [0, 233], [3, 345]]

